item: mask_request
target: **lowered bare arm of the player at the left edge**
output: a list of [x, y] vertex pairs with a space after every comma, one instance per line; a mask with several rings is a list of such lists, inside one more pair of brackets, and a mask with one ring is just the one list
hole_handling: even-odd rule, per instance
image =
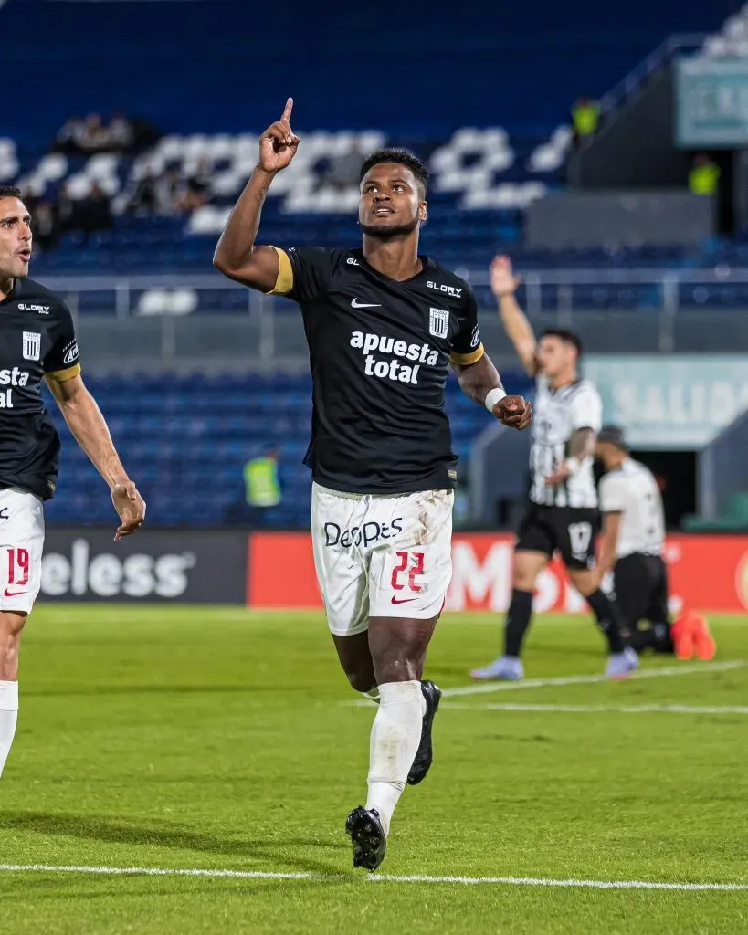
[[114, 449], [108, 425], [86, 389], [80, 375], [69, 380], [48, 376], [47, 385], [65, 416], [73, 438], [94, 463], [94, 468], [108, 483], [114, 509], [120, 515], [121, 525], [115, 539], [136, 532], [146, 516], [145, 502], [130, 480], [122, 461]]

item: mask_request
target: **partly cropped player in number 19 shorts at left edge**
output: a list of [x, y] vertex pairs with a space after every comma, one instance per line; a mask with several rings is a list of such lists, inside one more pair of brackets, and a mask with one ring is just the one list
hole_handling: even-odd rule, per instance
[[21, 632], [41, 586], [42, 501], [54, 494], [60, 453], [42, 381], [108, 482], [122, 520], [115, 539], [135, 532], [146, 509], [80, 378], [70, 311], [27, 278], [31, 252], [31, 217], [21, 192], [0, 186], [0, 774], [18, 721]]

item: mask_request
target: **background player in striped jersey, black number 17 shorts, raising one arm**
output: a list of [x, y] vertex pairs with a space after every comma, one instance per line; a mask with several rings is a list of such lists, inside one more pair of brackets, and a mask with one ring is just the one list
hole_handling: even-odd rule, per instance
[[485, 669], [473, 670], [472, 675], [476, 679], [523, 677], [520, 656], [530, 625], [535, 583], [558, 551], [608, 641], [607, 676], [625, 678], [636, 668], [637, 655], [625, 650], [620, 615], [600, 590], [595, 569], [599, 513], [592, 467], [602, 424], [602, 401], [593, 384], [579, 376], [582, 344], [573, 332], [552, 328], [536, 339], [514, 295], [519, 282], [508, 257], [496, 257], [491, 266], [491, 287], [501, 322], [526, 371], [538, 378], [530, 454], [532, 490], [514, 547], [504, 654]]

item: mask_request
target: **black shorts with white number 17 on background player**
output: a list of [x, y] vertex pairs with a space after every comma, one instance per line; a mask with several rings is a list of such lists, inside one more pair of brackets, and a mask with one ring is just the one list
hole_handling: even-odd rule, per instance
[[517, 529], [517, 552], [561, 554], [567, 568], [595, 568], [595, 537], [600, 513], [588, 507], [542, 507], [530, 509]]

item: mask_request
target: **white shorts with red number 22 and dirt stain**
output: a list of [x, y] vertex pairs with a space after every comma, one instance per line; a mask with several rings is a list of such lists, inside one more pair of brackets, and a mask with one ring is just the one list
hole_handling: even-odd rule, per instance
[[453, 500], [451, 490], [380, 496], [312, 485], [314, 564], [336, 636], [364, 632], [369, 617], [439, 615], [452, 577]]

